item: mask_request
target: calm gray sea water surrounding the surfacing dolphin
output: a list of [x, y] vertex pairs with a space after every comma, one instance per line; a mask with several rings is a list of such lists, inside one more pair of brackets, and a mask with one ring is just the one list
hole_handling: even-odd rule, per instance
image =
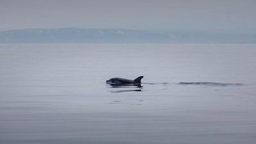
[[[253, 44], [1, 44], [0, 143], [255, 143], [255, 55]], [[138, 76], [142, 88], [105, 83]]]

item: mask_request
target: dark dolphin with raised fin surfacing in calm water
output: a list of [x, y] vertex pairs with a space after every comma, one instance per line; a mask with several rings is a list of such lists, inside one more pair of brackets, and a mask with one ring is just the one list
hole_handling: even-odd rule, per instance
[[141, 79], [143, 77], [144, 76], [139, 76], [134, 80], [115, 77], [107, 80], [106, 83], [111, 86], [141, 86]]

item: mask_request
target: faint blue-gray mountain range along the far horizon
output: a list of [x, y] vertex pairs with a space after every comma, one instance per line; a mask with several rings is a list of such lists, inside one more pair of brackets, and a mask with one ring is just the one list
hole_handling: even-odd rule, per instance
[[251, 43], [256, 34], [181, 33], [130, 29], [21, 29], [0, 31], [0, 43]]

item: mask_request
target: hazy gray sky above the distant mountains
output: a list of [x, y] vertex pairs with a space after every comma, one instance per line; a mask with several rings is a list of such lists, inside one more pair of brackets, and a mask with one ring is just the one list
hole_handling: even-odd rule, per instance
[[256, 33], [256, 0], [0, 0], [0, 31], [70, 27]]

